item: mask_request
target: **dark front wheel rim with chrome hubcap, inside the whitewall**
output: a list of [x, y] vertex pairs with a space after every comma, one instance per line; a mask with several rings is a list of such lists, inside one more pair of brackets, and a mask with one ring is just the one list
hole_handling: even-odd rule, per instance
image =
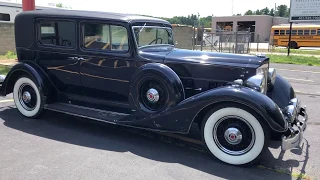
[[218, 148], [230, 155], [243, 155], [255, 143], [253, 127], [238, 116], [226, 116], [217, 121], [213, 128], [213, 139]]

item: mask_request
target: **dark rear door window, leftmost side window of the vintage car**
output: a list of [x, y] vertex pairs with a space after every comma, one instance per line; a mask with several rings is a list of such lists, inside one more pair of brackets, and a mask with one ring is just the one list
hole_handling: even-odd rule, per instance
[[69, 21], [41, 21], [40, 44], [74, 48], [76, 25]]

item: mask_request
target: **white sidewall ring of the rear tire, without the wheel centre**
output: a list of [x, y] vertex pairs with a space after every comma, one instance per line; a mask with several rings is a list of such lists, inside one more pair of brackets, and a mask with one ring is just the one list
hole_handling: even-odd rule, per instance
[[[31, 111], [26, 110], [20, 104], [20, 101], [19, 101], [18, 91], [19, 91], [19, 88], [21, 87], [21, 85], [24, 83], [29, 84], [34, 89], [36, 96], [37, 96], [36, 107]], [[41, 92], [40, 92], [38, 86], [36, 85], [36, 83], [31, 78], [29, 78], [27, 76], [22, 76], [22, 77], [18, 78], [18, 80], [15, 82], [14, 87], [13, 87], [13, 99], [14, 99], [15, 105], [16, 105], [17, 109], [19, 110], [19, 112], [26, 117], [36, 118], [42, 112], [43, 103], [42, 103]]]

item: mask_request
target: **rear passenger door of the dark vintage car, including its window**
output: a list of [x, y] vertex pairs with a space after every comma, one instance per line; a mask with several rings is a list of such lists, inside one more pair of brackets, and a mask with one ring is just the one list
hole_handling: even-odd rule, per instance
[[55, 18], [36, 22], [37, 62], [61, 93], [81, 95], [76, 22]]

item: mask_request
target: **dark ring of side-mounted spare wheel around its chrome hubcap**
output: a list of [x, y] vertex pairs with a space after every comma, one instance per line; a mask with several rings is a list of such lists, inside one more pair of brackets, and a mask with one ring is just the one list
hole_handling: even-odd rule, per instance
[[[148, 81], [156, 80], [167, 97], [163, 100], [161, 108], [156, 110], [148, 109], [140, 100], [141, 86]], [[161, 99], [160, 95], [160, 99]], [[129, 102], [140, 117], [147, 117], [151, 114], [163, 111], [176, 106], [185, 98], [183, 84], [179, 76], [167, 65], [160, 63], [144, 64], [133, 74], [129, 87]], [[159, 99], [159, 100], [160, 100]]]

